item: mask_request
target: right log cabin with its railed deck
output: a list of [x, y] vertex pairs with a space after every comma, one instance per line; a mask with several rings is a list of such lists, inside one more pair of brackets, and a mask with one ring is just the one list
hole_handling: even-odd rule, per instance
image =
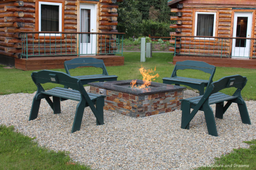
[[256, 0], [169, 0], [173, 63], [256, 68]]

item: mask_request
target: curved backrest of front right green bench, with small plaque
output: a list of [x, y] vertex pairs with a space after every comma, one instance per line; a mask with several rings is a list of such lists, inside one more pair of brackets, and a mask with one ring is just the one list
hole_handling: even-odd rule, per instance
[[234, 76], [226, 76], [218, 81], [212, 82], [208, 89], [205, 91], [205, 95], [210, 96], [212, 93], [219, 92], [222, 89], [235, 87], [237, 88], [234, 95], [240, 95], [241, 90], [246, 85], [247, 78], [241, 75], [234, 75]]

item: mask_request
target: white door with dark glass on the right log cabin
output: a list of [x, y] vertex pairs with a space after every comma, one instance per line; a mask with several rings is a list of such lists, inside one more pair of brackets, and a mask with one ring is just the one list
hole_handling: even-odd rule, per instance
[[[233, 37], [251, 38], [252, 13], [235, 12]], [[250, 40], [233, 39], [232, 57], [248, 58], [250, 55]]]

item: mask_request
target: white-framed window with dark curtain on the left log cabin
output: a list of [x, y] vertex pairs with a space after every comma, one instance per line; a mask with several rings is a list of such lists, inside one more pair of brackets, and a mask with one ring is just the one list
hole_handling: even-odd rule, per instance
[[[62, 31], [62, 3], [38, 3], [38, 31]], [[39, 36], [50, 36], [50, 34], [41, 33]], [[52, 33], [51, 36], [55, 36], [55, 33]], [[60, 36], [60, 34], [56, 34], [56, 36]]]

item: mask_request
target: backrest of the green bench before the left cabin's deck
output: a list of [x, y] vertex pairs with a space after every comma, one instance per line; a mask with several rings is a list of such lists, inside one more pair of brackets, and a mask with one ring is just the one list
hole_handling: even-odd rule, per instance
[[105, 67], [105, 64], [103, 60], [96, 59], [92, 57], [84, 57], [84, 58], [74, 58], [72, 60], [68, 60], [64, 62], [64, 67], [67, 72], [67, 74], [70, 75], [69, 69], [75, 69], [77, 67], [86, 67], [86, 66], [92, 66], [102, 69], [103, 75], [108, 75], [108, 71]]

